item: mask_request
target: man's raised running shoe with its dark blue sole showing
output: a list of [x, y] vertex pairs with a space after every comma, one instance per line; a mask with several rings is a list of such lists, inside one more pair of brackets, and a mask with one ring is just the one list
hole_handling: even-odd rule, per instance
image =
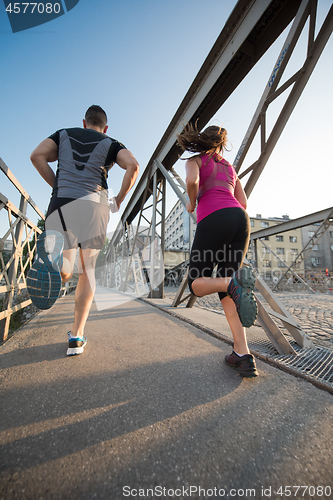
[[44, 231], [37, 239], [35, 262], [27, 274], [27, 291], [39, 309], [49, 309], [61, 290], [64, 238], [58, 231]]

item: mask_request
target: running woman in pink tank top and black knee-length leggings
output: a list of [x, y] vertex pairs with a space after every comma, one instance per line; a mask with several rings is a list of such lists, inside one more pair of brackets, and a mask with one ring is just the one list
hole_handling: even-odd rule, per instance
[[[194, 212], [198, 202], [188, 283], [197, 297], [218, 293], [234, 340], [226, 363], [244, 377], [255, 377], [258, 372], [244, 328], [252, 326], [257, 316], [255, 275], [250, 268], [241, 267], [250, 238], [250, 220], [236, 171], [223, 159], [226, 141], [226, 130], [217, 126], [198, 132], [188, 124], [178, 135], [180, 147], [196, 153], [186, 162], [187, 211]], [[216, 266], [216, 277], [212, 277]]]

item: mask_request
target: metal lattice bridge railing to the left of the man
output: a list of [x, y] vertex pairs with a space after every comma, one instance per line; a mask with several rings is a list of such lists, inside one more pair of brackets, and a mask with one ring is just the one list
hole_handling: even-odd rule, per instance
[[[27, 217], [28, 205], [40, 219], [44, 215], [0, 158], [0, 174], [15, 186], [20, 196], [17, 208], [0, 192], [0, 211], [7, 212], [8, 226], [0, 237], [0, 341], [8, 337], [12, 315], [31, 304], [26, 289], [26, 274], [33, 262], [38, 235], [42, 232]], [[3, 185], [3, 183], [1, 183]], [[10, 244], [11, 248], [6, 248]], [[16, 302], [16, 304], [15, 304]]]

